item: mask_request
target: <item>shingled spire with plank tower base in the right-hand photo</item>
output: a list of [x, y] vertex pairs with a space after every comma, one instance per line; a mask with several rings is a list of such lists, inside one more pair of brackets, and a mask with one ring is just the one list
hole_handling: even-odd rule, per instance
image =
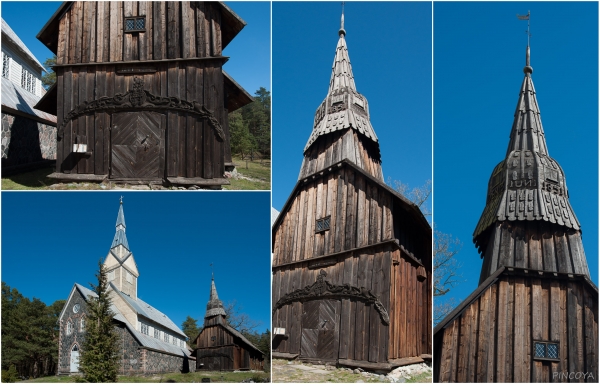
[[[589, 276], [580, 225], [569, 203], [565, 174], [558, 162], [548, 154], [531, 78], [533, 68], [530, 65], [529, 46], [525, 60], [525, 77], [506, 158], [492, 172], [486, 206], [473, 233], [473, 241], [484, 257], [480, 282], [503, 265], [532, 267], [526, 265], [527, 249], [516, 248], [519, 242], [529, 240], [525, 230], [541, 232], [544, 236], [569, 237], [568, 243], [564, 240], [563, 244], [562, 240], [557, 239], [557, 247], [544, 248], [543, 260], [539, 265], [536, 262], [534, 269]], [[519, 226], [519, 223], [523, 225]], [[550, 225], [556, 227], [550, 229]], [[502, 236], [505, 245], [500, 250]], [[511, 245], [508, 245], [509, 242]]]

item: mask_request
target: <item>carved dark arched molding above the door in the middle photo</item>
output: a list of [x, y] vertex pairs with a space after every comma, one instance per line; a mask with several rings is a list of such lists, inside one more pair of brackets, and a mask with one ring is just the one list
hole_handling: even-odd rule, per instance
[[283, 307], [286, 304], [290, 304], [295, 301], [308, 301], [315, 299], [329, 299], [329, 298], [340, 298], [340, 299], [356, 299], [366, 304], [372, 304], [379, 316], [381, 321], [385, 325], [390, 325], [390, 316], [387, 310], [381, 303], [381, 301], [371, 293], [370, 289], [365, 287], [354, 287], [350, 284], [335, 285], [325, 280], [327, 273], [324, 270], [319, 272], [317, 281], [311, 285], [307, 285], [304, 288], [296, 289], [293, 292], [284, 295], [282, 298], [275, 303], [273, 312]]

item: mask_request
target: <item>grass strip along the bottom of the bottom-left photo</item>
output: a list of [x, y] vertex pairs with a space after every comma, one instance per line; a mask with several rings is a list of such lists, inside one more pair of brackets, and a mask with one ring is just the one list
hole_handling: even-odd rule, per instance
[[[119, 376], [119, 383], [199, 383], [203, 378], [210, 378], [213, 383], [241, 383], [243, 380], [254, 379], [270, 382], [266, 372], [191, 372], [191, 373], [165, 373], [153, 376]], [[46, 376], [23, 383], [77, 383], [81, 376]]]

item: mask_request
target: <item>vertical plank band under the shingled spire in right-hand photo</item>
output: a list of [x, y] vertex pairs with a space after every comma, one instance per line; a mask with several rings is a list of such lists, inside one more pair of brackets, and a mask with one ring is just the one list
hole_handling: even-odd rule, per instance
[[581, 232], [532, 221], [497, 222], [490, 228], [479, 283], [502, 266], [589, 276]]

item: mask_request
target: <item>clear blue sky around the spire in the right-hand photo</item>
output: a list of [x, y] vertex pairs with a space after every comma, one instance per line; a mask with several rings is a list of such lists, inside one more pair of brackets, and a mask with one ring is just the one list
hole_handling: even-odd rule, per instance
[[481, 259], [472, 235], [491, 172], [505, 158], [523, 81], [531, 11], [531, 65], [551, 157], [562, 166], [598, 284], [598, 3], [487, 2], [434, 5], [434, 222], [463, 242], [465, 280]]

